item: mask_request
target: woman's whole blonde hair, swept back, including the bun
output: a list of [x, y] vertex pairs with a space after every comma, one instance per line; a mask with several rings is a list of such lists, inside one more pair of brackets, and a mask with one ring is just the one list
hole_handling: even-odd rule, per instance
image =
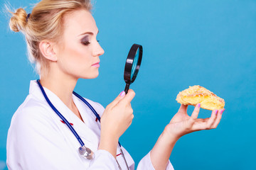
[[[28, 59], [36, 64], [36, 72], [41, 75], [48, 72], [48, 61], [41, 54], [39, 43], [42, 40], [60, 40], [63, 33], [65, 13], [79, 9], [91, 11], [90, 0], [42, 0], [30, 15], [23, 8], [12, 13], [9, 26], [15, 32], [21, 31], [28, 45]], [[43, 73], [42, 73], [43, 71]]]

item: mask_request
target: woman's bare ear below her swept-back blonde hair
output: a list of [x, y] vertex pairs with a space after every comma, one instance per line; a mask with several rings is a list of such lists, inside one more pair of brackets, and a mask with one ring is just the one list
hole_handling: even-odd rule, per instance
[[50, 42], [48, 40], [43, 40], [39, 43], [39, 49], [43, 55], [43, 57], [46, 57], [46, 59], [56, 62], [58, 60], [54, 48], [53, 48], [53, 42]]

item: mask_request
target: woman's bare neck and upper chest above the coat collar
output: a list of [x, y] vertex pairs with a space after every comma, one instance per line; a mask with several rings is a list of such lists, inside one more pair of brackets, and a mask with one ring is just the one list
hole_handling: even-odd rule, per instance
[[44, 77], [41, 77], [40, 82], [42, 86], [52, 91], [63, 103], [73, 110], [73, 90], [78, 79], [69, 77], [66, 74], [53, 74], [50, 73]]

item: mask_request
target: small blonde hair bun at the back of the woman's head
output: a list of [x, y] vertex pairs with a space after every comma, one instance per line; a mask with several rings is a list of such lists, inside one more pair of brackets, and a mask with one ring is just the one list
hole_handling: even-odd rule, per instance
[[[12, 12], [11, 12], [12, 13]], [[27, 13], [23, 8], [18, 8], [15, 13], [12, 13], [9, 26], [14, 32], [23, 31], [26, 28]]]

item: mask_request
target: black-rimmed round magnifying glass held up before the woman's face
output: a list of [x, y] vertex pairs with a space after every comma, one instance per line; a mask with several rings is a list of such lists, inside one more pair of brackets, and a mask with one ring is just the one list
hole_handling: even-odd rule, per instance
[[125, 86], [125, 94], [127, 94], [129, 90], [129, 85], [134, 82], [139, 72], [140, 64], [142, 63], [142, 45], [134, 44], [129, 50], [127, 61], [124, 67], [124, 81], [126, 83]]

